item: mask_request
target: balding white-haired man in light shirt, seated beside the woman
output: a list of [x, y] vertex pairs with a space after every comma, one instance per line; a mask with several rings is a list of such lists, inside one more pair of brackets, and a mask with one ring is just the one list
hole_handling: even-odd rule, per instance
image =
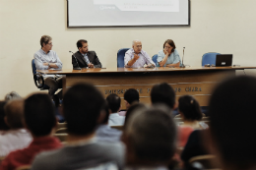
[[152, 61], [149, 54], [142, 50], [142, 42], [140, 40], [133, 40], [133, 48], [126, 51], [124, 56], [125, 67], [141, 68], [147, 64], [146, 67], [155, 67], [156, 64]]

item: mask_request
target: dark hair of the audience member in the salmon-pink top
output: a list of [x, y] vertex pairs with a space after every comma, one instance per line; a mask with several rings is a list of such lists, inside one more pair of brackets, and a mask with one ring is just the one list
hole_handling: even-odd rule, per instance
[[185, 120], [200, 121], [203, 117], [198, 101], [191, 95], [183, 95], [178, 99], [178, 110]]

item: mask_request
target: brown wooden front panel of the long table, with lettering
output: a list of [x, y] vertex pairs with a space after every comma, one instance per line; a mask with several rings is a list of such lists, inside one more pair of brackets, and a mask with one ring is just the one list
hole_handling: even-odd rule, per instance
[[201, 106], [207, 106], [213, 88], [227, 77], [234, 76], [234, 70], [210, 70], [189, 72], [151, 72], [151, 73], [97, 73], [66, 75], [65, 86], [68, 88], [78, 83], [96, 85], [106, 97], [116, 93], [122, 98], [122, 109], [125, 109], [123, 94], [129, 88], [136, 88], [140, 100], [151, 103], [150, 92], [153, 85], [167, 83], [176, 91], [177, 98], [181, 95], [193, 95]]

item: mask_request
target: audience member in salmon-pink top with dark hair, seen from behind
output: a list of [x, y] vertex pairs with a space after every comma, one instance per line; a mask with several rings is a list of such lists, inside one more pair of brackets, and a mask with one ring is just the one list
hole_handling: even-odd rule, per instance
[[178, 146], [184, 146], [194, 130], [207, 129], [208, 125], [200, 122], [203, 117], [200, 105], [190, 95], [184, 95], [178, 99], [178, 111], [184, 122], [178, 129]]

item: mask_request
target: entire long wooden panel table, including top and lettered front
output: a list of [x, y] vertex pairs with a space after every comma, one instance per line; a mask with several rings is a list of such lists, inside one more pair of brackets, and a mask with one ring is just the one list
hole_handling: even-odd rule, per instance
[[214, 87], [228, 77], [235, 76], [236, 70], [256, 69], [256, 67], [189, 67], [189, 68], [107, 68], [82, 70], [38, 70], [41, 74], [65, 75], [63, 91], [78, 83], [90, 83], [102, 92], [104, 97], [116, 93], [122, 98], [128, 88], [136, 88], [140, 101], [150, 103], [153, 85], [167, 83], [171, 85], [176, 96], [193, 95], [201, 106], [207, 106]]

